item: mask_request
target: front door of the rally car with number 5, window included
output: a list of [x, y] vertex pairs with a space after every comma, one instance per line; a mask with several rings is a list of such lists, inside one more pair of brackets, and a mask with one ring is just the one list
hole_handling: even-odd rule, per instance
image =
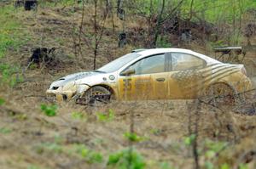
[[125, 70], [134, 70], [134, 73], [119, 76], [119, 94], [122, 99], [166, 99], [168, 72], [165, 54], [140, 59]]

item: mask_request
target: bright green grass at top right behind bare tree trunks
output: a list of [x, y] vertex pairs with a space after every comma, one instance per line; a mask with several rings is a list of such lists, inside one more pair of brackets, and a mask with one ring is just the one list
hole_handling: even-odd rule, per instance
[[[150, 8], [150, 3], [152, 6]], [[180, 0], [167, 0], [166, 8], [164, 12], [165, 15], [168, 14], [168, 11], [171, 11], [177, 4], [180, 3]], [[161, 1], [159, 0], [137, 0], [137, 7], [140, 14], [145, 16], [150, 16], [150, 11], [153, 14], [159, 14], [161, 6]], [[244, 14], [248, 9], [256, 8], [256, 1], [252, 0], [201, 0], [194, 1], [192, 6], [192, 11], [196, 14], [197, 18], [205, 19], [207, 22], [216, 23], [219, 20], [225, 20], [229, 23], [232, 23], [234, 18], [237, 20]], [[183, 0], [183, 3], [180, 6], [180, 16], [183, 19], [188, 19], [190, 17], [191, 9], [191, 0]], [[194, 15], [195, 15], [194, 14]]]

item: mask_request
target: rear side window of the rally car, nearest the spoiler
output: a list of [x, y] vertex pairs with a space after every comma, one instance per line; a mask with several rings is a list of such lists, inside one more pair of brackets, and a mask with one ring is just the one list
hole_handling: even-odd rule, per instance
[[206, 65], [205, 60], [190, 54], [172, 53], [172, 70], [195, 70]]

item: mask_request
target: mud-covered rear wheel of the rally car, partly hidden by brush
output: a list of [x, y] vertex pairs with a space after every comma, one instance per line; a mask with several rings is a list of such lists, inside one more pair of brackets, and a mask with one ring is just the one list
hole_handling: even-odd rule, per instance
[[207, 87], [207, 103], [214, 106], [232, 106], [236, 104], [236, 95], [232, 87], [226, 83], [215, 83]]

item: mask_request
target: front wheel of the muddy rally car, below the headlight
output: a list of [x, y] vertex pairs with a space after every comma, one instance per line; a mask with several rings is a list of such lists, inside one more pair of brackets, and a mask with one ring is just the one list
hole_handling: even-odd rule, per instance
[[111, 92], [106, 87], [96, 86], [90, 87], [89, 90], [79, 96], [79, 99], [76, 99], [76, 103], [84, 105], [108, 104], [110, 98]]

